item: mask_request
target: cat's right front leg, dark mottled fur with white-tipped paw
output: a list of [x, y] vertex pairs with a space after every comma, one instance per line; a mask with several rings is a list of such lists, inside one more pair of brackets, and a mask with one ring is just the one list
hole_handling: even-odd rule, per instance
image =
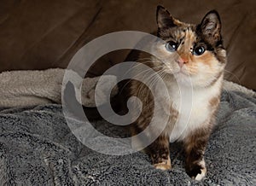
[[186, 153], [185, 169], [189, 177], [195, 180], [201, 180], [207, 174], [204, 153], [209, 136], [209, 130], [197, 130], [183, 140]]

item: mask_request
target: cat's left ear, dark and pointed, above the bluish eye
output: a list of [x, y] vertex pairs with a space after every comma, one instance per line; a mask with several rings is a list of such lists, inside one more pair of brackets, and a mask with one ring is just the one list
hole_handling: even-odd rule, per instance
[[167, 9], [162, 6], [157, 6], [156, 21], [159, 29], [177, 26], [179, 20], [176, 20], [170, 15]]

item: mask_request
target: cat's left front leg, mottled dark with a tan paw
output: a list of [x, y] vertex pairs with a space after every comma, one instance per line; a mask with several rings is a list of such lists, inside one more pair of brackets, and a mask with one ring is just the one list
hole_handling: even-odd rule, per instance
[[169, 137], [161, 135], [148, 147], [155, 168], [161, 170], [171, 169], [171, 159], [169, 152]]

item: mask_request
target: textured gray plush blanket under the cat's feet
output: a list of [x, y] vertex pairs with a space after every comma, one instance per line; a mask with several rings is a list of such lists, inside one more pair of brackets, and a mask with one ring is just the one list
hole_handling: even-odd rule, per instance
[[[125, 136], [105, 121], [95, 127]], [[256, 99], [237, 92], [222, 95], [202, 182], [185, 173], [179, 144], [171, 144], [171, 171], [154, 169], [141, 152], [112, 156], [86, 148], [69, 130], [61, 105], [1, 109], [0, 130], [0, 185], [256, 185]], [[104, 139], [88, 140], [97, 146]]]

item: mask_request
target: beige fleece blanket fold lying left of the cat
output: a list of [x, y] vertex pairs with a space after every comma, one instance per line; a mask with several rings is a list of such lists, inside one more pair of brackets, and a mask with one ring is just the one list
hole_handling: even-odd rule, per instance
[[[99, 104], [107, 102], [108, 97], [104, 94], [106, 89], [117, 83], [116, 78], [111, 75], [102, 78], [81, 78], [78, 73], [61, 68], [3, 72], [0, 73], [0, 107], [61, 103], [61, 88], [67, 83], [62, 84], [64, 75], [72, 77], [76, 98], [86, 107], [95, 107], [95, 93], [99, 97]], [[95, 92], [97, 83], [101, 86]], [[116, 95], [117, 92], [117, 87], [114, 87], [110, 96]]]

